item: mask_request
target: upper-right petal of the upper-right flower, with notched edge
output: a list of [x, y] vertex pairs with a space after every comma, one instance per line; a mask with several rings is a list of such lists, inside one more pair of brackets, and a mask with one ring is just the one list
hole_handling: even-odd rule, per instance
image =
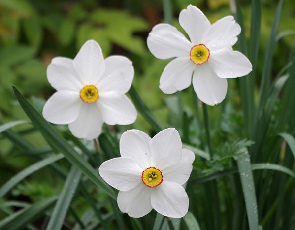
[[240, 33], [239, 24], [235, 22], [232, 16], [227, 16], [212, 24], [210, 31], [204, 36], [203, 42], [210, 51], [219, 50], [233, 46], [238, 40], [237, 35]]

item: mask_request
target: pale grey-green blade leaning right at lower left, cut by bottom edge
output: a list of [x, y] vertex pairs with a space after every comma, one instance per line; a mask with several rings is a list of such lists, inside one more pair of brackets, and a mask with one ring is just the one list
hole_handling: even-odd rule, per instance
[[81, 178], [81, 171], [72, 165], [71, 170], [66, 178], [66, 183], [59, 195], [58, 201], [52, 211], [47, 230], [62, 229], [67, 210], [75, 194], [77, 186]]

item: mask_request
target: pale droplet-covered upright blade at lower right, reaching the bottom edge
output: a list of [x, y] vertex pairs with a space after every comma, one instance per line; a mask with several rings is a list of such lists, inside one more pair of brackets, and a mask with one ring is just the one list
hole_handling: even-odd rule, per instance
[[250, 156], [245, 148], [237, 155], [238, 171], [246, 204], [249, 230], [258, 230], [258, 212]]

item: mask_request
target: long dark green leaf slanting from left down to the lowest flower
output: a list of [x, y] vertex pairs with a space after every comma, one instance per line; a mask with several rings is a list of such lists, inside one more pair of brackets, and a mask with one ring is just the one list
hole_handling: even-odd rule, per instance
[[44, 138], [59, 150], [72, 164], [76, 165], [95, 185], [104, 190], [110, 197], [116, 199], [115, 192], [99, 176], [98, 172], [79, 155], [71, 145], [30, 105], [30, 103], [13, 87], [15, 96], [28, 115], [33, 125], [41, 132]]

